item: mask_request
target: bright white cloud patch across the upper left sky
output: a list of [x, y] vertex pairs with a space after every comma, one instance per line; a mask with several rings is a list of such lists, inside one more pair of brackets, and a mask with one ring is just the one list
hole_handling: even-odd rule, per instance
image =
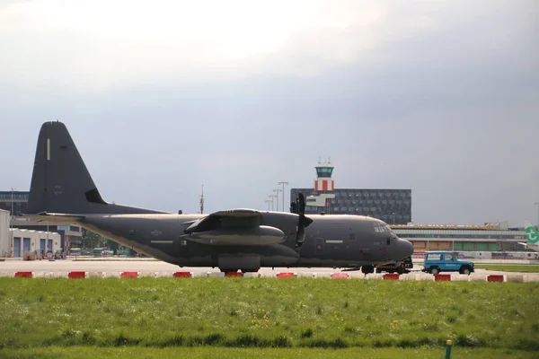
[[171, 76], [315, 76], [435, 26], [421, 16], [401, 22], [388, 8], [351, 1], [12, 4], [0, 10], [0, 44], [12, 54], [4, 76], [85, 91]]

